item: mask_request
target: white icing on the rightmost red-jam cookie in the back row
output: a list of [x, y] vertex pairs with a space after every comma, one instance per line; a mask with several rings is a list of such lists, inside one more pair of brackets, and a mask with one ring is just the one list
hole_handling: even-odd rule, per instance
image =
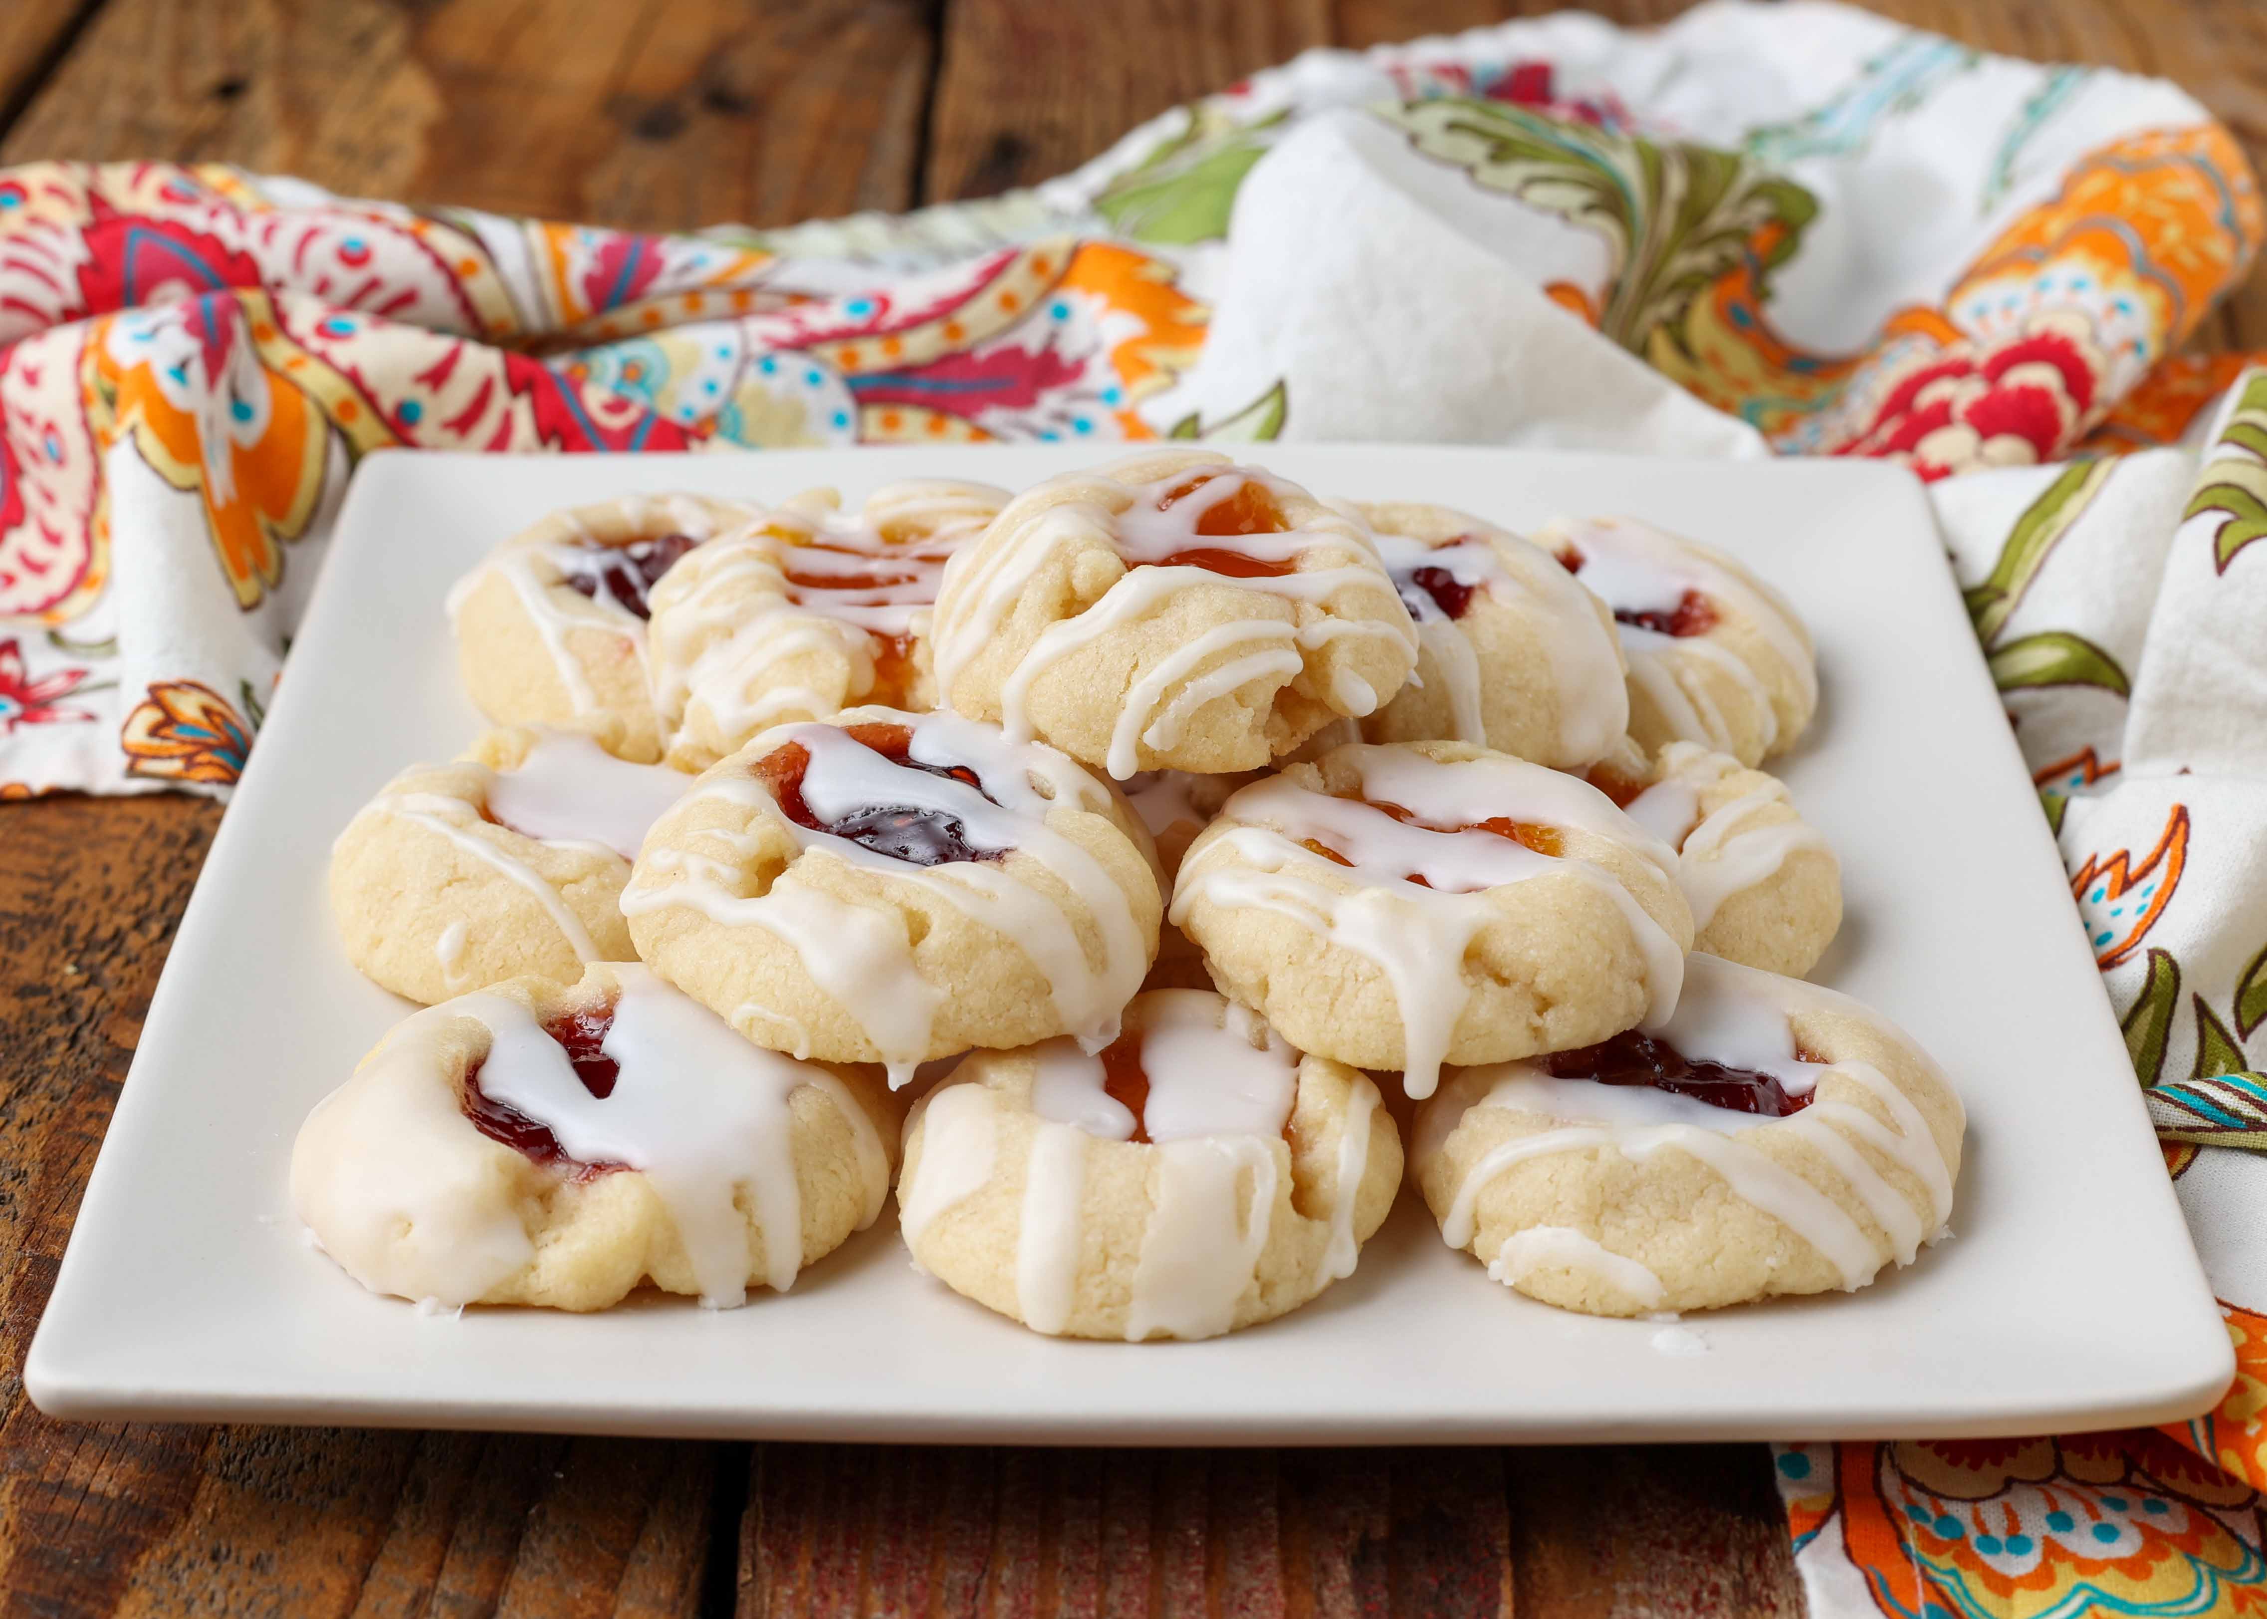
[[[1732, 605], [1789, 667], [1802, 694], [1802, 707], [1818, 705], [1818, 669], [1811, 662], [1809, 639], [1795, 621], [1793, 608], [1768, 585], [1743, 578], [1689, 540], [1678, 540], [1628, 517], [1562, 519], [1551, 524], [1544, 544], [1557, 553], [1569, 546], [1578, 551], [1582, 560], [1576, 569], [1578, 578], [1616, 612], [1671, 614], [1687, 590]], [[1619, 630], [1621, 649], [1630, 660], [1630, 680], [1662, 710], [1662, 719], [1678, 737], [1712, 748], [1732, 748], [1737, 741], [1732, 726], [1700, 689], [1700, 683], [1687, 678], [1689, 667], [1680, 667], [1680, 658], [1675, 658], [1682, 653], [1737, 680], [1752, 698], [1750, 707], [1761, 726], [1764, 753], [1777, 746], [1777, 705], [1746, 658], [1709, 635], [1662, 635], [1641, 624], [1621, 624]]]

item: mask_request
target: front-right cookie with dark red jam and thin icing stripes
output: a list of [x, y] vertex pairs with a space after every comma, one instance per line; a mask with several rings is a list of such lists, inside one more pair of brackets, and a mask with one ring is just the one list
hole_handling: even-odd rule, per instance
[[1952, 1218], [1965, 1116], [1848, 995], [1696, 955], [1675, 1016], [1464, 1068], [1410, 1163], [1449, 1247], [1591, 1315], [1863, 1288]]

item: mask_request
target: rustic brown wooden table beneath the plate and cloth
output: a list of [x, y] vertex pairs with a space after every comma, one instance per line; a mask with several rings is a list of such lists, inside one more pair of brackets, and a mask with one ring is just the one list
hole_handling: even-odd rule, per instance
[[[1496, 0], [0, 0], [0, 161], [234, 161], [630, 227], [1059, 172]], [[1598, 7], [1659, 20], [1678, 0]], [[2267, 168], [2253, 0], [1895, 0], [2181, 79]], [[2267, 283], [2204, 333], [2267, 347]], [[220, 807], [0, 810], [7, 1612], [1800, 1612], [1759, 1447], [1016, 1451], [68, 1426], [18, 1370]]]

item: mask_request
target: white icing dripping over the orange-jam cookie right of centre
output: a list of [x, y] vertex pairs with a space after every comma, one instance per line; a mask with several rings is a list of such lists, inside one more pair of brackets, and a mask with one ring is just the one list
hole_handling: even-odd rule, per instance
[[[1174, 884], [1172, 923], [1186, 925], [1202, 896], [1213, 905], [1290, 916], [1353, 950], [1385, 973], [1401, 1009], [1403, 1084], [1410, 1097], [1433, 1095], [1458, 1018], [1474, 984], [1464, 952], [1501, 909], [1483, 889], [1526, 882], [1551, 871], [1578, 873], [1598, 887], [1630, 925], [1646, 964], [1648, 1027], [1678, 1005], [1684, 950], [1603, 866], [1539, 855], [1514, 839], [1469, 830], [1510, 819], [1614, 839], [1675, 880], [1675, 855], [1589, 782], [1521, 760], [1492, 757], [1440, 764], [1408, 748], [1356, 746], [1362, 798], [1331, 798], [1274, 775], [1236, 794], [1224, 816], [1236, 825], [1183, 864]], [[1394, 803], [1453, 832], [1410, 825], [1378, 810]], [[1265, 825], [1251, 825], [1265, 823]], [[1313, 848], [1344, 857], [1338, 864]], [[1317, 882], [1317, 878], [1324, 878]], [[1410, 882], [1424, 878], [1424, 887]], [[1344, 891], [1340, 882], [1356, 882]]]

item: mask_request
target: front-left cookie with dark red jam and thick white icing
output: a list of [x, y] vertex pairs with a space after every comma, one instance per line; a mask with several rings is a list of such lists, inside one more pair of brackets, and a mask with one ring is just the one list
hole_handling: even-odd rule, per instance
[[710, 1306], [873, 1224], [898, 1118], [875, 1070], [766, 1052], [637, 964], [512, 980], [397, 1025], [290, 1154], [290, 1197], [372, 1292]]

